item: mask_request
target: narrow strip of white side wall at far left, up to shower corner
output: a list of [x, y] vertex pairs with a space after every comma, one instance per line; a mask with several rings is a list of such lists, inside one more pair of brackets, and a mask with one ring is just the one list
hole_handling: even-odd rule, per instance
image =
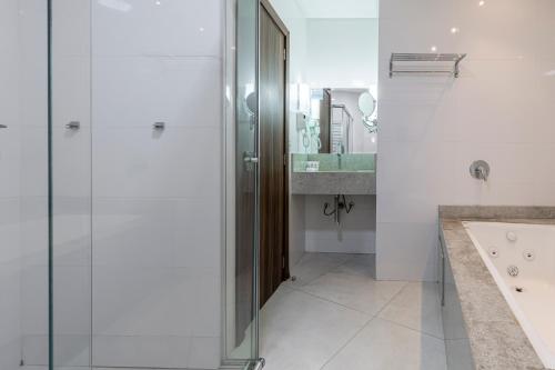
[[0, 368], [13, 370], [21, 353], [19, 248], [18, 1], [0, 3]]

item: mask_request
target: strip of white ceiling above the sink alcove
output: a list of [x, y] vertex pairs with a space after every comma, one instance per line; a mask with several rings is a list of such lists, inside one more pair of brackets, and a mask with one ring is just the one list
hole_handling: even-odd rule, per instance
[[379, 0], [296, 0], [306, 18], [377, 18]]

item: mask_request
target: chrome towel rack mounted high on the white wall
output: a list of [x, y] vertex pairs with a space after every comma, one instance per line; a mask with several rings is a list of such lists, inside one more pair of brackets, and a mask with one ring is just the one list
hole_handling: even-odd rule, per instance
[[390, 78], [394, 74], [451, 74], [458, 78], [461, 61], [466, 54], [455, 53], [398, 53], [390, 59]]

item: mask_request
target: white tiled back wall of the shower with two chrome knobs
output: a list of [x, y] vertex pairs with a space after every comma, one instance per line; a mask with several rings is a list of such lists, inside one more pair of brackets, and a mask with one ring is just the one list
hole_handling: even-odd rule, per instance
[[[46, 14], [41, 3], [26, 0], [36, 7], [26, 13]], [[107, 367], [220, 363], [222, 6], [53, 1], [58, 367], [87, 366], [91, 357]], [[23, 62], [46, 56], [46, 43], [31, 50]], [[39, 76], [46, 83], [46, 69], [33, 72], [23, 88]], [[21, 111], [27, 364], [46, 364], [48, 356], [47, 188], [39, 181], [47, 131], [37, 124], [46, 117], [39, 108]], [[70, 121], [81, 128], [68, 130]], [[158, 121], [164, 131], [152, 129]]]

